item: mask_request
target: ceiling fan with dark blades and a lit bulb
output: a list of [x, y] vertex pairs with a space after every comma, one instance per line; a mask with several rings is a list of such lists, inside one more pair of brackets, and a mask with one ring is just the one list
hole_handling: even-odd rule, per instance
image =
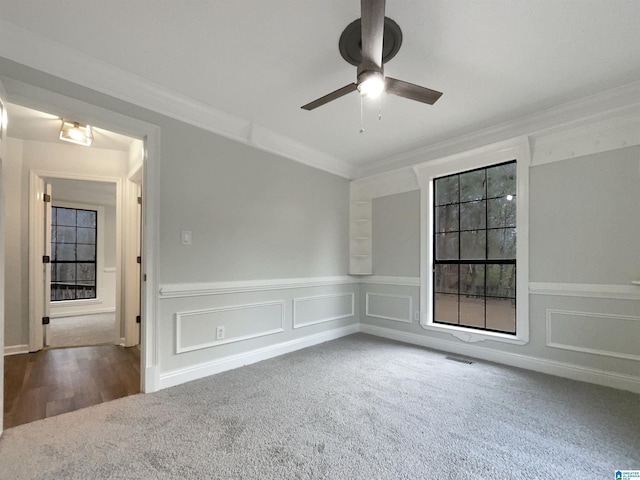
[[400, 27], [384, 16], [385, 0], [360, 0], [360, 8], [362, 18], [345, 28], [339, 42], [342, 57], [358, 67], [356, 82], [301, 108], [313, 110], [355, 90], [363, 97], [375, 98], [385, 91], [433, 105], [442, 96], [442, 92], [384, 76], [383, 64], [395, 56], [402, 44]]

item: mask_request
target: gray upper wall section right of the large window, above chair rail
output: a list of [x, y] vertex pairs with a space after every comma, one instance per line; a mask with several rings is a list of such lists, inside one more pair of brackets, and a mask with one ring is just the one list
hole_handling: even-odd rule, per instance
[[532, 282], [640, 278], [640, 147], [531, 169]]

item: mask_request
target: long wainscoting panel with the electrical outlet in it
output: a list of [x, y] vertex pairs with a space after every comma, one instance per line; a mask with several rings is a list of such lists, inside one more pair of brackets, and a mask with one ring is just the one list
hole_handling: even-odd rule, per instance
[[[232, 305], [176, 313], [176, 353], [241, 342], [284, 331], [285, 301]], [[216, 340], [216, 328], [225, 337]]]

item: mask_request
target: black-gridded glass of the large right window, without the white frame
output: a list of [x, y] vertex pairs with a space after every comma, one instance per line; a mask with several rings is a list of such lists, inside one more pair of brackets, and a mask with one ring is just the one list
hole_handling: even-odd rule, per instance
[[517, 333], [516, 169], [433, 179], [433, 323]]

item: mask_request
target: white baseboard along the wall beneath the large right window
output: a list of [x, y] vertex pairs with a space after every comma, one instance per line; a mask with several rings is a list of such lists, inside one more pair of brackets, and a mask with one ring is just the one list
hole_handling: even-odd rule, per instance
[[513, 367], [547, 373], [558, 377], [579, 380], [581, 382], [595, 383], [605, 387], [628, 390], [640, 393], [640, 377], [624, 375], [620, 373], [608, 372], [595, 368], [582, 367], [570, 363], [557, 362], [515, 353], [501, 352], [477, 345], [462, 344], [449, 340], [439, 340], [433, 337], [418, 335], [415, 333], [399, 332], [384, 327], [360, 324], [360, 331], [378, 337], [398, 340], [400, 342], [411, 343], [423, 347], [456, 353], [468, 357], [488, 360], [490, 362], [502, 363]]

